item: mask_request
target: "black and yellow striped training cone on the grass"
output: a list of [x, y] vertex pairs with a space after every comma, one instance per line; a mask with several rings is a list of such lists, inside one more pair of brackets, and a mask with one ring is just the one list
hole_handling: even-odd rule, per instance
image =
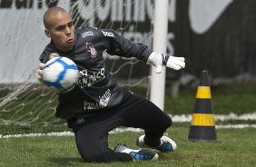
[[215, 119], [212, 113], [212, 95], [207, 71], [201, 72], [188, 139], [195, 142], [213, 142], [217, 140]]

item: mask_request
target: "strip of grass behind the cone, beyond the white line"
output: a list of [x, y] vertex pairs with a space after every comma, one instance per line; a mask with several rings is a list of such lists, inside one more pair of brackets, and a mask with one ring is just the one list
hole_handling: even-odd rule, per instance
[[[172, 114], [192, 113], [195, 104], [195, 92], [182, 91], [179, 97], [165, 95], [165, 112]], [[253, 113], [256, 112], [256, 91], [254, 93], [212, 93], [213, 113]]]

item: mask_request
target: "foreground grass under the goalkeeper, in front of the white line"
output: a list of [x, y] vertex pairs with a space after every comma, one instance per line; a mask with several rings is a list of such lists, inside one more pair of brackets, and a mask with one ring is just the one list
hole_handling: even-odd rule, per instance
[[[177, 142], [176, 152], [159, 152], [157, 162], [87, 163], [78, 154], [74, 137], [0, 139], [0, 166], [255, 166], [256, 133], [253, 129], [216, 130], [217, 142], [188, 142], [188, 123], [176, 123], [168, 130]], [[137, 148], [141, 133], [110, 134], [109, 144], [126, 143]]]

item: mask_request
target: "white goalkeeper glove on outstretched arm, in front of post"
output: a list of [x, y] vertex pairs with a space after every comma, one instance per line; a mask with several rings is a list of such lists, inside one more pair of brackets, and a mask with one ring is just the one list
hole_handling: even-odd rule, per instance
[[165, 65], [174, 70], [180, 70], [184, 68], [185, 58], [153, 52], [148, 57], [147, 64], [153, 64], [153, 66], [155, 67], [155, 73], [160, 74], [162, 72], [162, 65]]

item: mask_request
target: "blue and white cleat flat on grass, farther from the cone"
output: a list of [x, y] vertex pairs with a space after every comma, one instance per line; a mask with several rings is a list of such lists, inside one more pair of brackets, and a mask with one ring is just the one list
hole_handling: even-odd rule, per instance
[[128, 153], [133, 157], [133, 160], [158, 160], [158, 154], [149, 149], [132, 150], [124, 144], [117, 144], [113, 152]]

